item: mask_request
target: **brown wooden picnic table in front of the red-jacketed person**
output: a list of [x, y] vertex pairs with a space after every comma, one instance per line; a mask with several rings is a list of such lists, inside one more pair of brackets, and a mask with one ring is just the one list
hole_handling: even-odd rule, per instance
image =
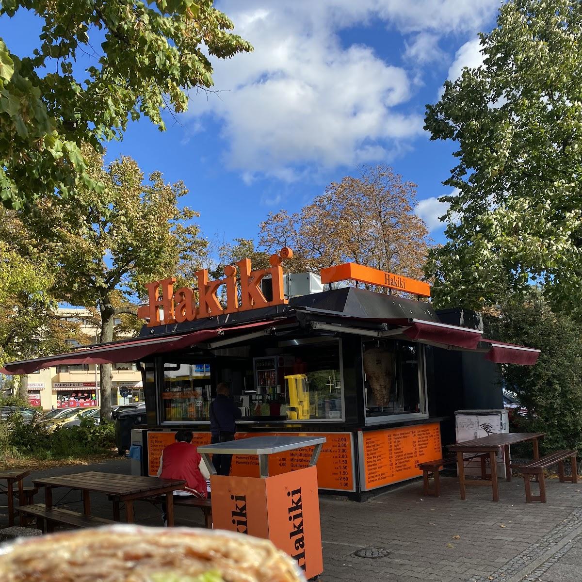
[[174, 524], [173, 492], [179, 489], [186, 481], [176, 479], [160, 479], [158, 477], [140, 477], [137, 475], [122, 475], [117, 473], [100, 473], [86, 471], [56, 477], [42, 477], [35, 479], [37, 487], [45, 488], [45, 506], [52, 508], [52, 489], [67, 487], [81, 491], [83, 496], [83, 514], [91, 515], [91, 492], [104, 493], [113, 501], [113, 519], [119, 519], [119, 504], [125, 502], [127, 523], [133, 523], [133, 502], [158, 495], [166, 496], [168, 526]]

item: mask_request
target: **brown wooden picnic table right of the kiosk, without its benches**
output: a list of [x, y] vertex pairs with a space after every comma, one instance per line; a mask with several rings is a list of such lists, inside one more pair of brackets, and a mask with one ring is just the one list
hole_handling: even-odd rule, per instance
[[[466, 485], [491, 485], [493, 490], [493, 501], [499, 501], [499, 488], [497, 484], [497, 464], [495, 454], [503, 451], [505, 459], [506, 480], [511, 481], [511, 470], [519, 465], [512, 464], [509, 456], [509, 447], [519, 442], [531, 441], [534, 447], [534, 459], [540, 458], [538, 439], [545, 437], [545, 432], [500, 432], [487, 437], [473, 439], [472, 441], [457, 442], [449, 445], [448, 449], [457, 453], [457, 467], [459, 468], [459, 487], [461, 499], [466, 499]], [[463, 453], [489, 453], [489, 463], [491, 464], [491, 474], [488, 479], [465, 479], [465, 468], [463, 465]]]

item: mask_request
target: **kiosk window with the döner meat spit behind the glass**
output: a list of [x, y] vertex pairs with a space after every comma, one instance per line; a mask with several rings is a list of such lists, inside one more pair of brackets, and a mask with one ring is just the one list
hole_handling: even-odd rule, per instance
[[398, 340], [364, 342], [367, 417], [425, 415], [420, 345]]

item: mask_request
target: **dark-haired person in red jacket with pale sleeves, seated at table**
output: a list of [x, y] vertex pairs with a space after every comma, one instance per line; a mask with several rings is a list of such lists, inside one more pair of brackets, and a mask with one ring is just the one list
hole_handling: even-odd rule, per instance
[[[174, 438], [176, 442], [166, 446], [159, 457], [158, 477], [186, 481], [186, 485], [173, 492], [174, 495], [207, 497], [206, 480], [210, 478], [210, 473], [202, 455], [191, 445], [192, 431], [180, 429]], [[162, 505], [162, 519], [166, 525], [165, 504]]]

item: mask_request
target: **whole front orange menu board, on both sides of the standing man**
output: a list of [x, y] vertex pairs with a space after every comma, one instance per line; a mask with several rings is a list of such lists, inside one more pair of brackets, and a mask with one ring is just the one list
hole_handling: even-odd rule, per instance
[[[159, 457], [165, 446], [174, 441], [175, 432], [150, 431], [148, 442], [148, 474], [155, 475]], [[192, 443], [196, 446], [210, 443], [210, 432], [194, 432]], [[317, 462], [317, 478], [320, 489], [355, 491], [354, 452], [350, 432], [239, 432], [236, 438], [248, 437], [325, 437]], [[280, 475], [309, 465], [313, 447], [289, 450], [269, 456], [269, 475]], [[258, 457], [235, 455], [230, 475], [233, 477], [258, 477]]]

